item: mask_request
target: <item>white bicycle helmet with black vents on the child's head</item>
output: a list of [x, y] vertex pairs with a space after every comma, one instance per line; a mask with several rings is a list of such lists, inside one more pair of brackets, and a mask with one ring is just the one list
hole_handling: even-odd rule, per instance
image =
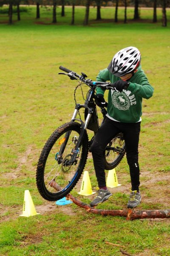
[[121, 77], [133, 72], [140, 65], [141, 54], [136, 47], [130, 46], [117, 52], [108, 70], [115, 76]]

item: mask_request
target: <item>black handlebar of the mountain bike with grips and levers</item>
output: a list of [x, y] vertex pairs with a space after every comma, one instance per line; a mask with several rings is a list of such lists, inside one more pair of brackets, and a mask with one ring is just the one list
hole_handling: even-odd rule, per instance
[[85, 79], [87, 76], [84, 73], [82, 73], [82, 75], [80, 76], [76, 72], [69, 70], [68, 68], [63, 67], [63, 66], [59, 66], [59, 69], [68, 73], [68, 74], [65, 74], [65, 73], [59, 73], [59, 74], [68, 75], [70, 77], [70, 79], [78, 78], [81, 81], [83, 81], [85, 84], [88, 84], [88, 85], [93, 85], [93, 86], [100, 85], [100, 87], [104, 87], [105, 89], [113, 89], [113, 87], [109, 86], [109, 85], [111, 85], [111, 83], [109, 83], [109, 82], [92, 81], [91, 79]]

